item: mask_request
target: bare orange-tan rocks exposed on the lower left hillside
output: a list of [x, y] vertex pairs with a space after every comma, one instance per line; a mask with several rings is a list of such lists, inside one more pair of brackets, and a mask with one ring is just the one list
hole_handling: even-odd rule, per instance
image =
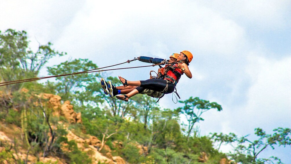
[[[25, 90], [26, 91], [26, 90]], [[24, 92], [24, 91], [23, 91]], [[63, 104], [61, 104], [61, 97], [58, 95], [53, 94], [47, 94], [43, 93], [40, 95], [36, 95], [40, 98], [42, 98], [41, 105], [44, 107], [49, 107], [53, 109], [52, 115], [53, 116], [63, 116], [65, 117], [69, 123], [82, 123], [81, 120], [81, 113], [76, 113], [73, 109], [73, 105], [70, 104], [70, 101], [65, 101]], [[35, 105], [40, 105], [39, 102], [33, 102]], [[13, 124], [8, 124], [9, 127], [2, 126], [0, 129], [0, 143], [6, 143], [7, 145], [14, 145], [13, 144], [13, 138], [15, 137], [18, 140], [21, 140], [20, 137], [23, 137], [23, 131], [21, 128], [17, 127]], [[109, 146], [104, 145], [102, 152], [105, 152], [104, 154], [100, 153], [98, 149], [101, 146], [101, 141], [91, 135], [85, 135], [83, 134], [82, 137], [79, 137], [78, 135], [74, 134], [71, 130], [68, 129], [68, 126], [66, 123], [64, 123], [63, 127], [66, 129], [68, 134], [65, 136], [67, 137], [68, 141], [74, 140], [77, 143], [78, 149], [84, 152], [87, 152], [87, 155], [92, 158], [93, 163], [108, 163], [108, 164], [125, 164], [125, 161], [120, 156], [112, 156], [111, 149]], [[53, 126], [53, 128], [56, 128]], [[10, 134], [11, 133], [11, 134]], [[6, 148], [1, 147], [0, 144], [0, 152], [4, 151]], [[17, 156], [18, 159], [26, 160], [28, 163], [35, 163], [38, 159], [36, 156], [28, 155], [27, 156], [27, 150], [23, 149], [22, 147], [17, 147], [19, 149], [17, 151], [17, 154], [13, 154], [14, 156]], [[63, 152], [68, 151], [66, 149], [65, 144], [61, 146], [61, 149]], [[57, 164], [63, 164], [65, 161], [64, 159], [60, 159], [58, 157], [40, 157], [39, 158], [41, 162], [43, 163], [57, 163]], [[0, 160], [1, 161], [1, 160]], [[7, 160], [8, 161], [8, 160]], [[8, 162], [13, 162], [11, 161]]]

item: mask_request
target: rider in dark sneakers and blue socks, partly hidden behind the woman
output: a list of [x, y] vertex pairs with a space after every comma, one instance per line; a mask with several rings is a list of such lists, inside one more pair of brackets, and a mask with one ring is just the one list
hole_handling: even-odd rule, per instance
[[[171, 63], [175, 63], [178, 59], [178, 56], [179, 54], [178, 53], [173, 53], [169, 58], [168, 60], [168, 64], [171, 64]], [[158, 69], [158, 74], [157, 76], [162, 76], [164, 75], [165, 71], [166, 71], [166, 67], [168, 65], [166, 65], [165, 67], [163, 68], [159, 68]], [[162, 73], [163, 72], [163, 73]], [[127, 94], [127, 93], [130, 93], [132, 90], [134, 90], [135, 88], [137, 88], [137, 86], [113, 86], [111, 81], [109, 81], [108, 83], [104, 80], [104, 78], [101, 79], [101, 86], [102, 86], [102, 89], [104, 90], [104, 93], [106, 95], [109, 95], [109, 97], [113, 98], [114, 96], [118, 95], [118, 94]], [[143, 90], [143, 92], [141, 92], [141, 94], [147, 94], [149, 96], [152, 96], [152, 97], [157, 97], [157, 98], [160, 98], [162, 97], [164, 94], [161, 93], [161, 92], [158, 92], [158, 91], [154, 91], [154, 90], [149, 90], [149, 89], [145, 89]]]

